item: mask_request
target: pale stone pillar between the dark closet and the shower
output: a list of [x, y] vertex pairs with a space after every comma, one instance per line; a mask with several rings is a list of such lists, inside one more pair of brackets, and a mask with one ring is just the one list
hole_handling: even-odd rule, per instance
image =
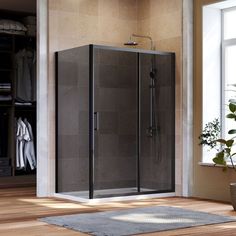
[[48, 88], [48, 1], [37, 0], [37, 196], [54, 193], [54, 161], [50, 153]]

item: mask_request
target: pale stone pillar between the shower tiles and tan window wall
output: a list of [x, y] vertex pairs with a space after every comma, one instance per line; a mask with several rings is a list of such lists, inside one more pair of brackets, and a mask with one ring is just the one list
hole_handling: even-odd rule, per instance
[[193, 186], [193, 1], [183, 0], [183, 196]]

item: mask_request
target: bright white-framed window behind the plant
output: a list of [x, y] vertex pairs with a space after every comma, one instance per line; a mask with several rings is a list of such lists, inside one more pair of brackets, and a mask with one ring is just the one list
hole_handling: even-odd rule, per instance
[[[226, 1], [227, 2], [227, 1]], [[236, 7], [222, 9], [217, 4], [203, 8], [203, 128], [220, 119], [222, 136], [235, 128], [225, 118], [229, 99], [236, 98]], [[212, 163], [216, 150], [203, 147], [202, 162]]]

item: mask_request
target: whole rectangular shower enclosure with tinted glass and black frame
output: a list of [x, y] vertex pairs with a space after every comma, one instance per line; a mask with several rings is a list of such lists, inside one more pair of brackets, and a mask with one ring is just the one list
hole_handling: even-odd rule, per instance
[[87, 45], [56, 53], [56, 192], [174, 192], [175, 55]]

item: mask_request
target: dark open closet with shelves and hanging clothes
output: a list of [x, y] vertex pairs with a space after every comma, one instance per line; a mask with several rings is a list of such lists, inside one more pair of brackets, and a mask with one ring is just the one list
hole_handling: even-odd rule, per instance
[[23, 10], [0, 3], [0, 188], [35, 185], [37, 170], [36, 13]]

